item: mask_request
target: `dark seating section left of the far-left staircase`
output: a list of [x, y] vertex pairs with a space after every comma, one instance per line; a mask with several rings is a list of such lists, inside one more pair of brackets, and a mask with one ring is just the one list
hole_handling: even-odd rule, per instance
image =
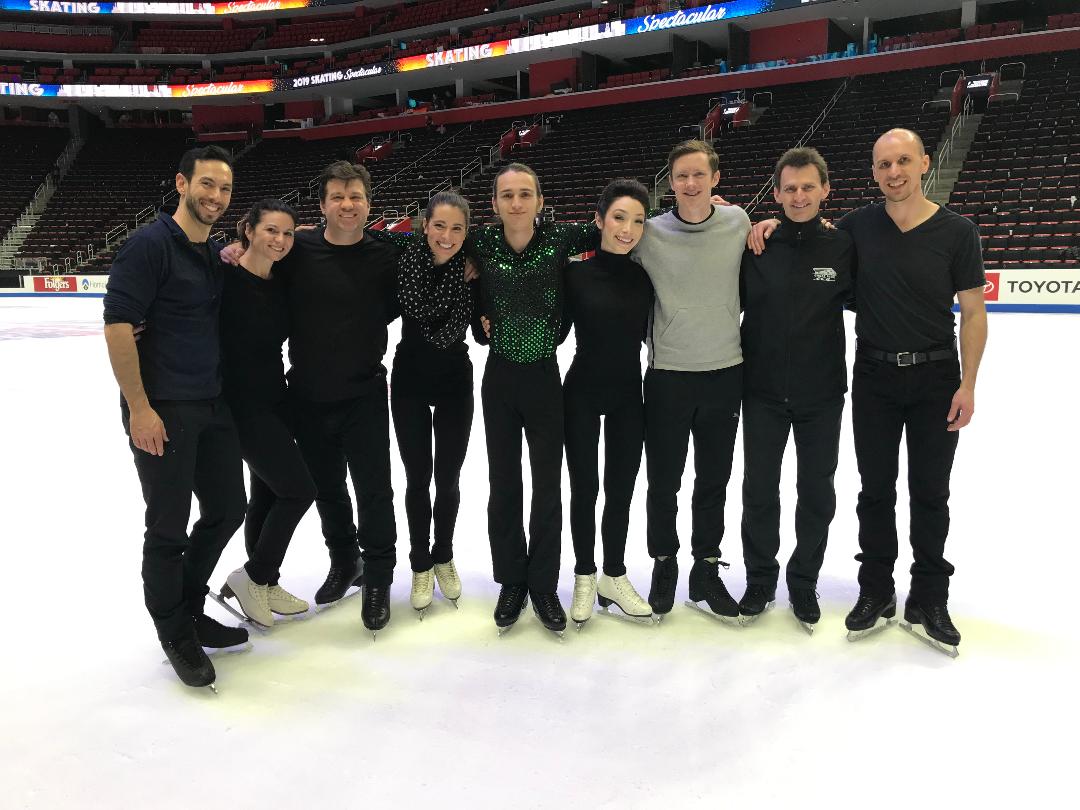
[[68, 145], [53, 126], [0, 126], [0, 239], [8, 234]]

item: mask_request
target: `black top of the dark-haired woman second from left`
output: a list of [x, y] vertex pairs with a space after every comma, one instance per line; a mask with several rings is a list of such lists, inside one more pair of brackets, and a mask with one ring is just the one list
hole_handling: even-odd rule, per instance
[[221, 386], [237, 414], [270, 409], [286, 393], [281, 348], [288, 337], [288, 299], [276, 274], [261, 279], [225, 267], [221, 293]]

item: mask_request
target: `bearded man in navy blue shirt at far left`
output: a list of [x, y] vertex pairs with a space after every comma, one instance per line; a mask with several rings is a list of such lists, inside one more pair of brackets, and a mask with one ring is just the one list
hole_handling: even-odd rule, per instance
[[[210, 239], [232, 197], [229, 153], [185, 153], [176, 190], [176, 213], [139, 229], [112, 264], [105, 339], [146, 501], [146, 607], [179, 678], [211, 686], [214, 666], [203, 646], [247, 640], [246, 631], [203, 613], [206, 582], [245, 509], [240, 444], [218, 367], [220, 246]], [[200, 516], [189, 536], [192, 492]]]

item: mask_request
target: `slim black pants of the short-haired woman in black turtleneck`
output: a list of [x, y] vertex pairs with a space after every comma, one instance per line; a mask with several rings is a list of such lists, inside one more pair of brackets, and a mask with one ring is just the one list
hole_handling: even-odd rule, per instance
[[570, 473], [570, 532], [575, 573], [596, 572], [596, 497], [599, 494], [600, 416], [604, 416], [604, 573], [626, 573], [626, 528], [642, 465], [645, 405], [642, 381], [603, 390], [579, 381], [571, 367], [563, 389], [566, 465]]

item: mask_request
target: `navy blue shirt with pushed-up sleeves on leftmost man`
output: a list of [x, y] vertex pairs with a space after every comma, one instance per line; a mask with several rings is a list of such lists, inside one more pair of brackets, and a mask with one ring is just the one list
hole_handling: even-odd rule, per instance
[[112, 262], [105, 323], [146, 323], [137, 347], [150, 400], [211, 400], [221, 393], [220, 247], [214, 240], [191, 242], [163, 212], [135, 231]]

